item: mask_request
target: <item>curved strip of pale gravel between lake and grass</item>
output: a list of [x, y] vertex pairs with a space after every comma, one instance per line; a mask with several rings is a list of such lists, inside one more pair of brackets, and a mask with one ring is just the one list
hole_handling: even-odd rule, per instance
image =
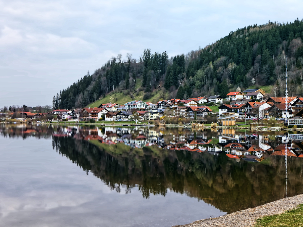
[[202, 219], [187, 225], [175, 225], [174, 227], [251, 227], [255, 226], [255, 220], [258, 218], [281, 214], [287, 210], [297, 208], [301, 203], [303, 203], [303, 194], [269, 202], [254, 208], [233, 212], [218, 218]]

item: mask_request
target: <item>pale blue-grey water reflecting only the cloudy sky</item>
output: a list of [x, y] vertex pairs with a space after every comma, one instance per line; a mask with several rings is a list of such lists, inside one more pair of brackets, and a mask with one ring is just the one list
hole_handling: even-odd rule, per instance
[[226, 213], [169, 190], [148, 199], [138, 187], [117, 193], [58, 155], [51, 138], [0, 144], [0, 226], [171, 226]]

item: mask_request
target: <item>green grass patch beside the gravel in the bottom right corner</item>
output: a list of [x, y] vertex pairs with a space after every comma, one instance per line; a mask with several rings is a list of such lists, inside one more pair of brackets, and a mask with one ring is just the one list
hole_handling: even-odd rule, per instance
[[303, 226], [303, 204], [298, 209], [280, 215], [265, 216], [257, 219], [255, 227], [301, 227]]

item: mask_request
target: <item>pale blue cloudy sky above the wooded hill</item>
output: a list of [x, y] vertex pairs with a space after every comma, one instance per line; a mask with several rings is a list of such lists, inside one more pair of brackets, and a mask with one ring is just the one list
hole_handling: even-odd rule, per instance
[[0, 0], [0, 107], [50, 105], [112, 56], [187, 53], [237, 28], [302, 18], [302, 8], [299, 0]]

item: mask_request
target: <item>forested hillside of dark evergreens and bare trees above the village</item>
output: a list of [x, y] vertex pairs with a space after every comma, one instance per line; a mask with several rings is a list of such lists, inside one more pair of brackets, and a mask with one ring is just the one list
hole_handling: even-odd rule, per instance
[[168, 99], [211, 94], [225, 97], [237, 88], [273, 85], [271, 95], [280, 96], [285, 93], [286, 56], [289, 94], [302, 94], [302, 39], [303, 20], [297, 19], [289, 24], [269, 22], [231, 31], [203, 49], [171, 58], [166, 51], [151, 54], [146, 49], [139, 59], [128, 54], [128, 61], [123, 62], [119, 54], [60, 91], [53, 98], [53, 108], [84, 107], [113, 90], [131, 99], [144, 92], [147, 100], [155, 90]]

